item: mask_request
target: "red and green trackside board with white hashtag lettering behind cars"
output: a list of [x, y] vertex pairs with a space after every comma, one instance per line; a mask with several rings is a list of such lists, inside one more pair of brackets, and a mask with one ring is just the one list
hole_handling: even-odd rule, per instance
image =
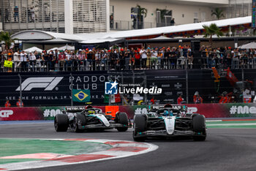
[[[189, 113], [200, 113], [206, 118], [256, 117], [255, 103], [233, 104], [185, 104]], [[129, 118], [147, 113], [148, 105], [140, 106], [94, 106], [104, 113], [115, 116], [117, 111], [127, 113]], [[0, 107], [0, 121], [53, 120], [64, 107]]]

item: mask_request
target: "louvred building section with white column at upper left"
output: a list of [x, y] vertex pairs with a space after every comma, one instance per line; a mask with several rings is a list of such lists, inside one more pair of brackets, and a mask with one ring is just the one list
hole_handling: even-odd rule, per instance
[[106, 0], [1, 0], [4, 30], [76, 34], [107, 31]]

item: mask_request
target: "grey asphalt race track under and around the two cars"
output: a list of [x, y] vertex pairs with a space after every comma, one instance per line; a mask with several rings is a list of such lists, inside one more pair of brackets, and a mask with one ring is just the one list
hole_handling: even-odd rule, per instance
[[[132, 140], [132, 129], [75, 133], [55, 132], [53, 123], [0, 124], [0, 137]], [[256, 129], [211, 128], [204, 142], [157, 139], [146, 142], [159, 148], [127, 158], [35, 170], [256, 170]]]

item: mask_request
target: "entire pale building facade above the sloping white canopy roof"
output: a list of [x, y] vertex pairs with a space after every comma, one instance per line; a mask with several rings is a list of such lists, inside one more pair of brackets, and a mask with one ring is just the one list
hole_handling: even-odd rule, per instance
[[[66, 34], [155, 28], [252, 14], [251, 0], [1, 0], [3, 29]], [[174, 20], [173, 20], [174, 19]], [[171, 22], [171, 20], [173, 20]], [[1, 28], [1, 26], [0, 26]]]

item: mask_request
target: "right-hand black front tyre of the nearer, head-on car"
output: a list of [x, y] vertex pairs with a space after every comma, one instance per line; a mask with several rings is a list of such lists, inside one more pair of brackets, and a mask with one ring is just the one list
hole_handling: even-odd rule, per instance
[[203, 115], [195, 115], [192, 118], [192, 130], [200, 135], [194, 136], [195, 141], [206, 140], [206, 119]]

